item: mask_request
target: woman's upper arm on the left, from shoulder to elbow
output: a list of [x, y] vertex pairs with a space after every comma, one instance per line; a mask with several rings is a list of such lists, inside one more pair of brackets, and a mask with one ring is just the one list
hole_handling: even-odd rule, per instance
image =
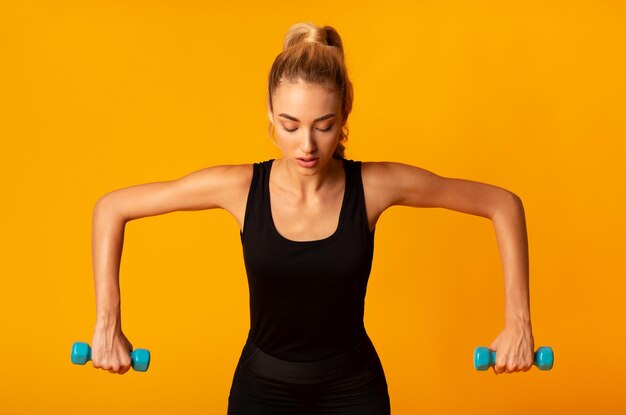
[[219, 165], [179, 179], [139, 184], [102, 196], [96, 207], [113, 209], [126, 220], [182, 210], [225, 208], [250, 183], [251, 165]]

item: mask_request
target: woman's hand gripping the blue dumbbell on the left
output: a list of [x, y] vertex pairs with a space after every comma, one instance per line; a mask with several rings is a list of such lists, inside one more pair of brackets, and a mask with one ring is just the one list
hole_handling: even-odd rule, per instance
[[133, 345], [122, 332], [119, 318], [96, 321], [91, 341], [91, 362], [94, 368], [123, 375], [131, 368]]

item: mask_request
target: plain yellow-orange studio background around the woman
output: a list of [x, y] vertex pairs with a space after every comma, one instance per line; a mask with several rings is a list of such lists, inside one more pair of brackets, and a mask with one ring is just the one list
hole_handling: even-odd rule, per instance
[[124, 332], [147, 373], [70, 363], [91, 341], [105, 192], [280, 157], [267, 74], [298, 21], [341, 34], [347, 157], [517, 193], [535, 345], [551, 372], [473, 369], [502, 329], [492, 223], [381, 217], [365, 325], [394, 414], [626, 411], [626, 5], [621, 1], [14, 1], [0, 6], [0, 413], [226, 412], [249, 328], [224, 210], [127, 224]]

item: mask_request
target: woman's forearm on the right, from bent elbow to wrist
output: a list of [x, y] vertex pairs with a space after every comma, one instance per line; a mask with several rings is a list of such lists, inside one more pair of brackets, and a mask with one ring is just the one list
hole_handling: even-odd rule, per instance
[[505, 325], [530, 326], [528, 236], [522, 201], [513, 197], [492, 217], [504, 272]]

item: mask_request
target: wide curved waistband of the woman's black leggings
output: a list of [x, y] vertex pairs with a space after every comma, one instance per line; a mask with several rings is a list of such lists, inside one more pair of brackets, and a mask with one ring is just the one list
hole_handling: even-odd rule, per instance
[[368, 352], [373, 348], [367, 335], [352, 350], [327, 359], [312, 362], [294, 362], [282, 360], [259, 349], [250, 338], [244, 346], [242, 357], [249, 356], [241, 366], [256, 376], [288, 383], [311, 384], [336, 378], [358, 363], [366, 361]]

